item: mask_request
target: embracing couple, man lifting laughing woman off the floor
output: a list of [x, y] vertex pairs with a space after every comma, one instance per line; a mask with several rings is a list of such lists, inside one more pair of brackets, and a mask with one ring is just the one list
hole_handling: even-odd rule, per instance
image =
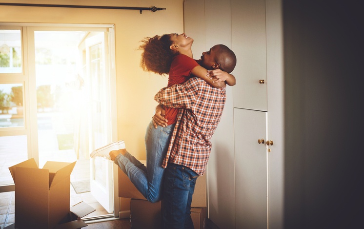
[[145, 133], [146, 167], [121, 147], [95, 150], [90, 156], [113, 160], [150, 202], [163, 200], [164, 229], [193, 229], [191, 202], [196, 179], [205, 173], [210, 139], [222, 116], [226, 84], [236, 56], [223, 44], [192, 55], [193, 39], [165, 34], [142, 41], [143, 70], [168, 74], [168, 85], [154, 97], [159, 103]]

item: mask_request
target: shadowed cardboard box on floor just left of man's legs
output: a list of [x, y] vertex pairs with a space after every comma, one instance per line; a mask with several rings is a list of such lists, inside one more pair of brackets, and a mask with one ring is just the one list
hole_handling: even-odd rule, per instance
[[161, 201], [130, 200], [130, 229], [161, 229]]

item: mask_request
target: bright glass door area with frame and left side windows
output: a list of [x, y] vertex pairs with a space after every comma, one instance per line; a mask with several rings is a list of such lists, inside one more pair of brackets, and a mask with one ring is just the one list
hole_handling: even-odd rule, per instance
[[115, 169], [89, 158], [117, 140], [113, 25], [0, 26], [0, 191], [13, 187], [7, 167], [28, 158], [77, 161], [70, 204], [92, 199], [118, 216]]

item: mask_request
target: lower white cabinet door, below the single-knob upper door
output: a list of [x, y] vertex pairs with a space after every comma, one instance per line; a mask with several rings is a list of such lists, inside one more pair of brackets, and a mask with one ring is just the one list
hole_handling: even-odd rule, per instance
[[267, 228], [265, 123], [266, 112], [234, 108], [237, 229]]

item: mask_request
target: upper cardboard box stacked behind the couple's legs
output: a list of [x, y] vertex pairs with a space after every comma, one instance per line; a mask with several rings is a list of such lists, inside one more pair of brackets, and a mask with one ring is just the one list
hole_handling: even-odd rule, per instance
[[[141, 161], [146, 165], [146, 161]], [[119, 168], [119, 197], [146, 200], [142, 193], [131, 183], [128, 176]], [[206, 176], [199, 176], [196, 181], [195, 191], [193, 193], [191, 207], [207, 207], [206, 198]]]

